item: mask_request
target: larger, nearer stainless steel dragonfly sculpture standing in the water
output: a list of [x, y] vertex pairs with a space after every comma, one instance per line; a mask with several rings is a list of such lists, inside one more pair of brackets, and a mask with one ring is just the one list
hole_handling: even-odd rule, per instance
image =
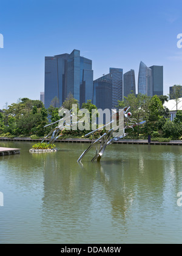
[[[86, 153], [95, 145], [99, 144], [99, 149], [96, 148], [96, 154], [93, 157], [92, 161], [100, 161], [101, 157], [103, 156], [104, 151], [106, 150], [107, 145], [112, 144], [113, 142], [116, 142], [123, 137], [127, 136], [128, 133], [125, 133], [125, 130], [128, 128], [132, 128], [137, 125], [142, 125], [145, 121], [136, 123], [136, 119], [130, 118], [132, 116], [132, 113], [129, 112], [130, 107], [126, 107], [124, 109], [121, 109], [119, 112], [113, 111], [112, 114], [112, 121], [104, 125], [103, 127], [100, 127], [96, 129], [95, 131], [101, 130], [101, 128], [106, 128], [111, 123], [119, 124], [117, 127], [113, 126], [110, 130], [106, 130], [106, 132], [99, 137], [99, 139], [94, 140], [93, 134], [95, 131], [91, 131], [90, 133], [86, 134], [85, 137], [90, 136], [92, 134], [92, 143], [90, 144], [89, 148], [85, 150], [81, 156], [78, 158], [77, 162], [81, 162], [83, 157], [86, 155]], [[119, 122], [120, 121], [120, 122]]]

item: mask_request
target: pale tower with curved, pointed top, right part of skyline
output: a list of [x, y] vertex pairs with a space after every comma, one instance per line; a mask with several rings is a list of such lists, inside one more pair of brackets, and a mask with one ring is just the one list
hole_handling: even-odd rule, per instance
[[138, 94], [146, 94], [152, 97], [152, 69], [147, 67], [142, 61], [138, 73]]

